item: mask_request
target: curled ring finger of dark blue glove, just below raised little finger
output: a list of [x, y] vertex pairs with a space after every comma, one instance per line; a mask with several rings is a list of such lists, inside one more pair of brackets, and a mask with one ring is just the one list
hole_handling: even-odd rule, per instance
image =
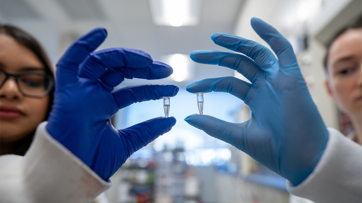
[[117, 67], [140, 68], [152, 64], [151, 56], [138, 49], [109, 48], [90, 53], [82, 62], [79, 77], [97, 81], [106, 69]]

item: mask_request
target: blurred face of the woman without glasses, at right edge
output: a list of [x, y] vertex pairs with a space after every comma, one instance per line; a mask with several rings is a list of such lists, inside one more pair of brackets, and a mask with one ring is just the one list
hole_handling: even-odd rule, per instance
[[342, 111], [362, 116], [362, 28], [339, 36], [329, 49], [327, 89]]

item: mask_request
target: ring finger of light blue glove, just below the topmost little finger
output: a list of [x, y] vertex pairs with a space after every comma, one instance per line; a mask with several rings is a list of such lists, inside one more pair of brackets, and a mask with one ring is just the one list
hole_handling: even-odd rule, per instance
[[274, 65], [275, 63], [278, 63], [277, 58], [275, 58], [274, 54], [268, 48], [261, 44], [225, 33], [214, 33], [211, 35], [211, 39], [219, 46], [249, 56], [265, 72], [270, 74], [277, 73], [278, 66]]

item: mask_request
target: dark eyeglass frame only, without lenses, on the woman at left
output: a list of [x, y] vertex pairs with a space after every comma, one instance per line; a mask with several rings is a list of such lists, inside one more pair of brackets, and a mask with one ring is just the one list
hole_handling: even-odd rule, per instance
[[[53, 88], [54, 86], [54, 78], [49, 75], [49, 74], [46, 74], [46, 73], [34, 73], [34, 72], [26, 72], [26, 73], [20, 73], [20, 74], [11, 74], [11, 73], [8, 73], [6, 72], [5, 70], [3, 69], [0, 69], [0, 72], [3, 72], [5, 74], [5, 79], [4, 81], [0, 84], [0, 88], [3, 87], [4, 83], [10, 78], [10, 77], [13, 77], [15, 78], [15, 82], [16, 82], [16, 85], [18, 86], [18, 90], [21, 92], [21, 94], [23, 94], [24, 96], [28, 96], [28, 97], [31, 97], [31, 98], [42, 98], [42, 97], [45, 97], [46, 95], [48, 95], [51, 91], [51, 89]], [[26, 94], [24, 93], [23, 91], [21, 91], [21, 88], [20, 88], [20, 85], [18, 83], [18, 78], [21, 77], [21, 76], [24, 76], [24, 75], [41, 75], [41, 76], [44, 76], [46, 77], [48, 80], [49, 80], [49, 85], [48, 85], [48, 88], [46, 89], [46, 91], [41, 94], [41, 95], [29, 95], [29, 94]]]

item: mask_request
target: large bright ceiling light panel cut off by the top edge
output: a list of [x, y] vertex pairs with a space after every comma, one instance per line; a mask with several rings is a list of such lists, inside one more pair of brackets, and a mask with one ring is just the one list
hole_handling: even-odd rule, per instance
[[201, 0], [149, 0], [152, 20], [157, 26], [197, 26]]

